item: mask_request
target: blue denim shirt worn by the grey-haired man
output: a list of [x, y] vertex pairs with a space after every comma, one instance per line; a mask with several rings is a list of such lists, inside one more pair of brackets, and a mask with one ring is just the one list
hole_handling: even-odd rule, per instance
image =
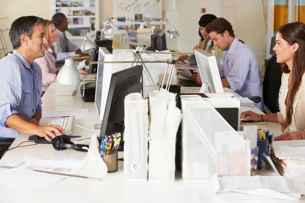
[[5, 124], [7, 118], [19, 114], [24, 120], [35, 112], [42, 112], [40, 66], [29, 66], [25, 58], [14, 50], [0, 60], [0, 137], [16, 138], [18, 131]]

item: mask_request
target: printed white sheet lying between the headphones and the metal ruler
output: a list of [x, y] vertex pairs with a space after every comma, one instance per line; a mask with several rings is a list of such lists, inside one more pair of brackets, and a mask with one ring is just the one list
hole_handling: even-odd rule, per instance
[[85, 164], [86, 161], [81, 160], [29, 160], [19, 165], [19, 167], [75, 175]]

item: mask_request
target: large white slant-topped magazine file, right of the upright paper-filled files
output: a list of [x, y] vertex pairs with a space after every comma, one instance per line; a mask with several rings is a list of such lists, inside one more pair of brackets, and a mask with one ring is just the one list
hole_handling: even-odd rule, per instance
[[215, 132], [235, 130], [200, 96], [181, 96], [181, 108], [182, 179], [209, 181], [217, 173]]

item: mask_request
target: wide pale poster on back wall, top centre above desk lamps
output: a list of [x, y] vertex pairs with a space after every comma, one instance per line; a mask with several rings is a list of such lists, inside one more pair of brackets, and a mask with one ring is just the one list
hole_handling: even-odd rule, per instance
[[136, 30], [141, 22], [162, 28], [162, 0], [113, 0], [111, 17], [119, 29]]

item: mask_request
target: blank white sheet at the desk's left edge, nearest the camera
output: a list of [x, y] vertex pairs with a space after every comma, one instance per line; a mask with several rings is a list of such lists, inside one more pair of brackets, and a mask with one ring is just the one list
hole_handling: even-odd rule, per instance
[[12, 168], [0, 172], [0, 184], [22, 190], [31, 190], [33, 188], [42, 187], [60, 179], [67, 178], [28, 170], [26, 168]]

